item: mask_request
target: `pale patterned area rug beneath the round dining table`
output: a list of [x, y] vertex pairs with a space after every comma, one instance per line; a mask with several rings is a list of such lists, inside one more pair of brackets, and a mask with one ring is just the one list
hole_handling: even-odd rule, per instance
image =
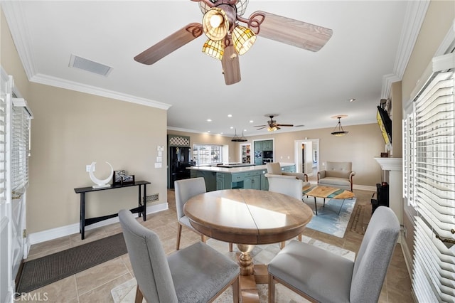
[[[288, 241], [289, 242], [289, 241]], [[348, 260], [355, 259], [355, 252], [351, 252], [350, 250], [345, 250], [343, 248], [338, 248], [336, 246], [323, 243], [319, 240], [315, 240], [306, 236], [302, 237], [302, 242], [309, 243], [311, 245], [315, 245], [319, 248], [323, 248], [325, 250], [331, 251], [336, 255], [342, 255], [346, 257]], [[236, 253], [238, 252], [237, 247], [234, 245], [234, 251], [228, 251], [228, 245], [224, 242], [220, 242], [218, 240], [209, 239], [207, 240], [207, 244], [211, 247], [215, 248], [219, 252], [231, 257], [232, 260], [235, 260]], [[255, 248], [252, 250], [251, 255], [253, 257], [253, 262], [255, 264], [268, 264], [272, 258], [277, 255], [279, 252], [279, 244], [269, 244], [269, 245], [256, 245]], [[134, 297], [136, 295], [136, 280], [128, 280], [124, 282], [122, 285], [119, 285], [111, 290], [112, 299], [114, 303], [133, 303]], [[268, 287], [267, 284], [259, 284], [257, 285], [257, 289], [259, 291], [259, 302], [267, 302], [267, 295], [268, 295]], [[283, 285], [277, 284], [275, 289], [275, 300], [276, 302], [308, 302], [303, 297], [299, 296], [295, 292], [292, 292], [287, 287]], [[145, 302], [145, 301], [144, 301]], [[228, 289], [223, 292], [215, 301], [215, 303], [232, 303], [232, 287], [228, 287]]]

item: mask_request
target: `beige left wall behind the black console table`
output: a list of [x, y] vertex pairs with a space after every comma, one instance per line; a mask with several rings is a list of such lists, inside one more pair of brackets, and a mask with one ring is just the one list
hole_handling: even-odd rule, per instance
[[[136, 105], [58, 87], [29, 83], [1, 21], [1, 65], [33, 111], [27, 195], [28, 233], [79, 223], [79, 195], [74, 188], [92, 186], [85, 166], [97, 162], [95, 176], [125, 169], [136, 180], [151, 181], [147, 193], [167, 202], [166, 155], [154, 168], [156, 146], [166, 146], [166, 110]], [[87, 193], [87, 218], [137, 206], [137, 188]], [[151, 204], [149, 203], [149, 206]]]

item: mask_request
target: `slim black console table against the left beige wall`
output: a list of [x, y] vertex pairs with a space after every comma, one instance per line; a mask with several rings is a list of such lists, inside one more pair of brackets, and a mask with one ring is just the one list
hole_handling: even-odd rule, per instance
[[[143, 220], [145, 221], [146, 220], [146, 196], [147, 196], [146, 185], [147, 184], [150, 184], [150, 182], [149, 181], [136, 181], [131, 184], [122, 184], [122, 185], [116, 184], [116, 185], [111, 185], [111, 186], [105, 187], [105, 188], [92, 188], [91, 186], [74, 188], [74, 191], [76, 193], [80, 193], [80, 227], [79, 227], [80, 238], [82, 240], [84, 240], [84, 238], [85, 238], [85, 226], [118, 216], [117, 213], [113, 213], [112, 215], [86, 219], [85, 218], [85, 193], [89, 193], [90, 191], [106, 191], [108, 189], [138, 186], [138, 188], [139, 188], [138, 207], [130, 209], [129, 211], [131, 211], [132, 213], [139, 213], [139, 217], [142, 216]], [[141, 186], [144, 186], [144, 196], [141, 195]]]

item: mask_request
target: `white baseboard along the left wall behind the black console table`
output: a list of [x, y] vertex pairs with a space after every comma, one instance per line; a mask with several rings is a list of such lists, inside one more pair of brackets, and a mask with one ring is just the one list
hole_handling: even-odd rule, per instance
[[[166, 211], [168, 209], [168, 203], [160, 203], [152, 206], [147, 206], [147, 214], [151, 213], [158, 213], [159, 211]], [[138, 216], [137, 213], [134, 214], [134, 216]], [[107, 220], [103, 220], [97, 223], [94, 223], [92, 225], [88, 225], [85, 227], [85, 230], [92, 230], [94, 228], [99, 228], [101, 226], [109, 225], [112, 223], [117, 223], [119, 222], [119, 218], [110, 218]], [[41, 243], [45, 242], [48, 240], [53, 240], [56, 238], [61, 238], [65, 237], [66, 235], [73, 235], [73, 233], [79, 233], [79, 223], [71, 224], [71, 225], [66, 225], [66, 226], [61, 226], [58, 228], [52, 228], [49, 230], [43, 230], [38, 233], [31, 233], [30, 235], [27, 236], [27, 254], [28, 251], [30, 250], [30, 246], [36, 243]]]

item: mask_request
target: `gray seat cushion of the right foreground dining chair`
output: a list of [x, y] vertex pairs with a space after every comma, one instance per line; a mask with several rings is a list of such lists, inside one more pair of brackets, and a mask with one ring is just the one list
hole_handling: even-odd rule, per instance
[[292, 240], [269, 262], [269, 273], [319, 302], [349, 302], [354, 262]]

